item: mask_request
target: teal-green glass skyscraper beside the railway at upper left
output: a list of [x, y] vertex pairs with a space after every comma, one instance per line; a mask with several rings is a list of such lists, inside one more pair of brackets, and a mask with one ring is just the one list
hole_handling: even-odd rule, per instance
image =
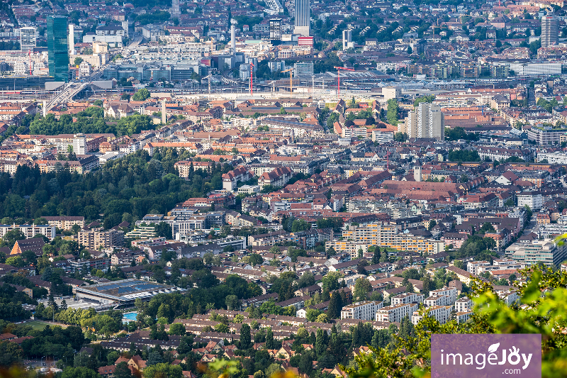
[[47, 54], [49, 75], [56, 82], [69, 80], [69, 50], [67, 47], [67, 17], [47, 17]]

